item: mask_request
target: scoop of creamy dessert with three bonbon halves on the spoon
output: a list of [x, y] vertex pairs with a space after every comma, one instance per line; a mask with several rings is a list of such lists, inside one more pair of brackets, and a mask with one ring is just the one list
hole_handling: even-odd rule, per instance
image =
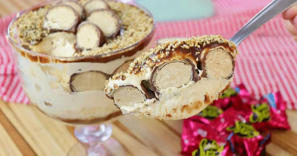
[[156, 45], [105, 82], [123, 114], [160, 120], [198, 114], [230, 87], [237, 50], [220, 35]]

